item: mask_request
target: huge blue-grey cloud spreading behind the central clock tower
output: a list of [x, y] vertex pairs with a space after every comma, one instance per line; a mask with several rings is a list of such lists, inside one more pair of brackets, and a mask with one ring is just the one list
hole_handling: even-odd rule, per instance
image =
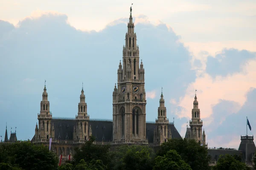
[[[143, 15], [134, 20], [140, 59], [145, 68], [146, 95], [150, 98], [147, 120], [154, 120], [161, 87], [166, 101], [179, 101], [179, 97], [185, 95], [187, 85], [195, 81], [196, 74], [191, 70], [192, 56], [172, 29], [164, 23], [153, 25]], [[15, 126], [18, 122], [21, 139], [35, 133], [35, 113], [39, 112], [44, 79], [47, 79], [53, 116], [76, 115], [81, 83], [84, 82], [90, 117], [112, 118], [112, 91], [122, 59], [128, 18], [115, 20], [98, 32], [77, 30], [67, 21], [65, 14], [39, 12], [21, 20], [18, 27], [9, 31], [8, 39], [0, 39], [0, 72], [5, 73], [0, 74], [0, 79], [5, 82], [0, 84], [0, 95], [5, 99], [1, 105], [11, 102], [8, 108], [0, 107], [0, 113], [7, 115], [0, 124], [7, 121]], [[168, 117], [174, 117], [172, 105], [166, 102], [166, 107]], [[10, 115], [16, 113], [17, 108], [19, 113], [13, 118]], [[100, 114], [103, 112], [106, 114]], [[30, 121], [22, 126], [20, 120], [27, 117]], [[180, 131], [184, 119], [175, 120]]]

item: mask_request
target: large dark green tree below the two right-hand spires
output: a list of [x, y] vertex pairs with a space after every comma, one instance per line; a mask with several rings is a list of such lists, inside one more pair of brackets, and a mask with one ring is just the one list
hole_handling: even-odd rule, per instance
[[200, 146], [195, 140], [169, 139], [161, 145], [157, 156], [164, 156], [169, 150], [176, 150], [192, 170], [210, 170], [207, 148]]

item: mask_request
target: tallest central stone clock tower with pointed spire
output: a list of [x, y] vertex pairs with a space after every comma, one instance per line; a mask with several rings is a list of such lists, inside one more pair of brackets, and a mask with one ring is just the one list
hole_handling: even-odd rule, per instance
[[122, 62], [117, 70], [118, 83], [113, 91], [113, 142], [116, 144], [147, 143], [145, 72], [131, 12], [132, 8]]

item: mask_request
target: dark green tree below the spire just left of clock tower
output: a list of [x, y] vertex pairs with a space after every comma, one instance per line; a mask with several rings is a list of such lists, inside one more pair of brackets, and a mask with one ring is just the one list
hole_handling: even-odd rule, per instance
[[81, 159], [89, 164], [93, 159], [102, 160], [103, 164], [108, 165], [108, 150], [110, 145], [93, 144], [95, 138], [90, 136], [90, 140], [86, 141], [81, 148], [75, 148], [76, 153], [73, 156], [74, 164], [79, 164]]

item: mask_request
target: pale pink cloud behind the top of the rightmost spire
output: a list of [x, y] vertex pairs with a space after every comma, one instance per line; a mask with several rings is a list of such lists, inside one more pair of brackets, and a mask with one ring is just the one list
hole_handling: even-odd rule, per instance
[[217, 105], [220, 99], [244, 105], [247, 91], [251, 87], [256, 88], [255, 65], [256, 60], [250, 60], [241, 67], [241, 73], [234, 73], [227, 77], [217, 76], [215, 79], [207, 73], [202, 73], [195, 82], [189, 84], [186, 95], [180, 98], [177, 107], [184, 109], [177, 112], [177, 115], [190, 117], [195, 89], [198, 89], [197, 96], [202, 119], [212, 115], [212, 107]]

